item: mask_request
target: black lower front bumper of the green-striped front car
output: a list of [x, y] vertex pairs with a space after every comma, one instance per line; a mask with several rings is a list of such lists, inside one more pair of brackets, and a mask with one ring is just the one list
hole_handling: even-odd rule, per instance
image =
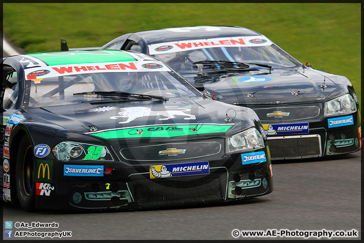
[[[123, 161], [87, 161], [104, 166], [103, 176], [65, 176], [65, 165], [84, 165], [84, 161], [54, 161], [54, 190], [49, 196], [37, 195], [39, 209], [135, 209], [195, 205], [255, 197], [274, 189], [270, 158], [243, 164], [241, 154], [209, 161], [209, 173], [151, 179], [149, 165], [130, 166]], [[165, 162], [164, 162], [165, 163]], [[177, 162], [173, 162], [174, 164]], [[111, 169], [111, 173], [106, 171]], [[108, 170], [110, 171], [110, 170]]]

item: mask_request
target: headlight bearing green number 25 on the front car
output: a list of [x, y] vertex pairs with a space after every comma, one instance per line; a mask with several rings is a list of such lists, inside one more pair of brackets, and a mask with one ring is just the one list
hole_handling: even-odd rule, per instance
[[57, 144], [53, 148], [53, 154], [58, 160], [107, 160], [113, 161], [113, 157], [106, 146], [77, 143], [71, 141], [65, 141]]

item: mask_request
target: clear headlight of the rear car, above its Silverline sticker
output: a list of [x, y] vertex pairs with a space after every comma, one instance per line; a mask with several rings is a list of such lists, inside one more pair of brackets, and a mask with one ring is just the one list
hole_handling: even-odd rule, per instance
[[325, 103], [325, 115], [338, 115], [356, 111], [354, 99], [345, 94]]

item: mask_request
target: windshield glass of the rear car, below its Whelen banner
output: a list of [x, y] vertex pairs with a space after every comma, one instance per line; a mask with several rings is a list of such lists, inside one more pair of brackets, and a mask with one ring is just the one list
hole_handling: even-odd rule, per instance
[[[281, 51], [275, 45], [257, 47], [215, 47], [169, 52], [152, 55], [181, 74], [209, 72], [210, 69], [225, 67], [218, 64], [202, 65], [203, 61], [228, 61], [247, 63], [251, 68], [264, 68], [264, 65], [275, 68], [297, 67], [302, 64]], [[255, 64], [260, 65], [255, 65]], [[247, 70], [246, 70], [247, 71]]]

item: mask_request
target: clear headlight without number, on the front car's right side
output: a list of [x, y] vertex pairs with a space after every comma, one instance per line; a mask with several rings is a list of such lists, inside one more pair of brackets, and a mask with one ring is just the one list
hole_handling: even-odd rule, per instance
[[263, 148], [263, 138], [256, 128], [228, 137], [229, 152]]

